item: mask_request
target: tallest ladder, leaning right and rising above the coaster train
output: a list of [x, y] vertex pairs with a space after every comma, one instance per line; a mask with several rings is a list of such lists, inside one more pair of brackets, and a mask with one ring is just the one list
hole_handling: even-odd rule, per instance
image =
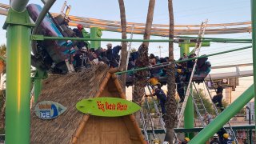
[[[206, 22], [202, 22], [202, 25], [201, 25], [199, 33], [198, 33], [198, 42], [197, 42], [197, 44], [194, 48], [194, 51], [197, 51], [197, 56], [198, 56], [198, 54], [200, 52], [200, 48], [202, 46], [201, 38], [203, 38], [204, 33], [206, 31], [207, 22], [208, 22], [207, 19], [206, 19]], [[185, 111], [185, 108], [186, 108], [186, 102], [187, 102], [187, 99], [189, 98], [189, 95], [190, 95], [191, 82], [192, 82], [192, 79], [193, 79], [193, 76], [194, 76], [194, 71], [195, 71], [196, 65], [197, 65], [197, 59], [195, 59], [195, 62], [194, 62], [194, 66], [193, 66], [191, 76], [190, 76], [190, 81], [189, 81], [187, 89], [186, 89], [184, 102], [182, 102], [182, 104], [178, 103], [178, 106], [177, 106], [177, 109], [176, 109], [176, 114], [178, 115], [177, 128], [179, 128], [181, 126], [182, 118], [184, 116], [183, 114], [184, 114], [184, 111]]]

